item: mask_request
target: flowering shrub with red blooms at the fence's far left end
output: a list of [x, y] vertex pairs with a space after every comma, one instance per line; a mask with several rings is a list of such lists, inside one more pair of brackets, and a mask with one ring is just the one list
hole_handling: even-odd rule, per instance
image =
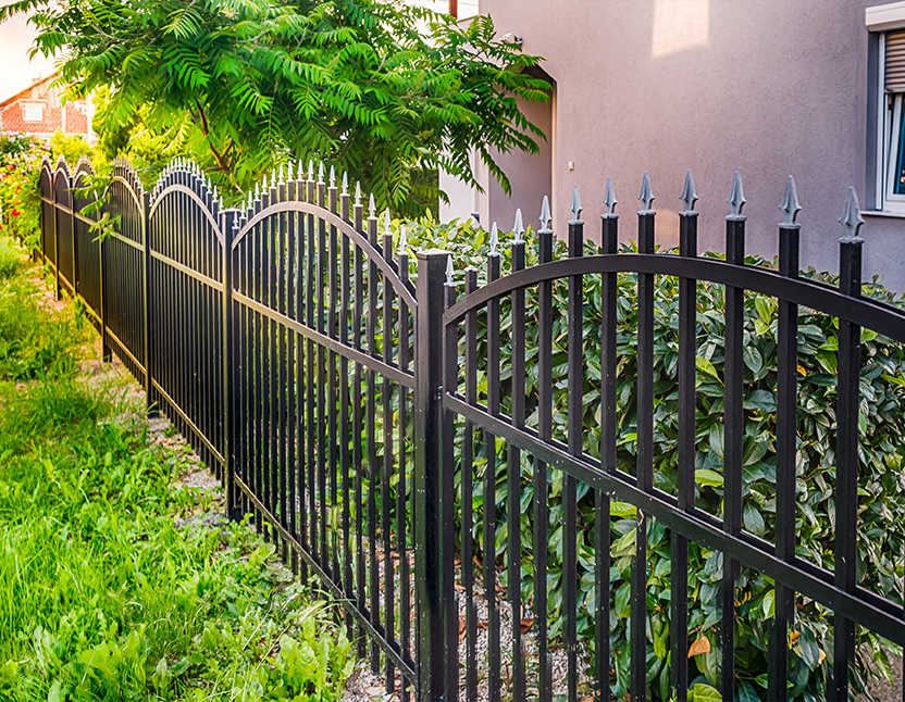
[[36, 139], [0, 134], [0, 234], [32, 246], [40, 222], [38, 177], [45, 151]]

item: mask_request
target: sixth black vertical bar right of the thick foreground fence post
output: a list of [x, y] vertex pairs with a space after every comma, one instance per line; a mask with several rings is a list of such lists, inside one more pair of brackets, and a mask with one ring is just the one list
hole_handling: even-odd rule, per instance
[[[581, 220], [581, 203], [578, 188], [572, 189], [572, 218], [569, 221], [569, 258], [578, 259], [584, 253], [584, 223]], [[584, 365], [583, 365], [583, 279], [580, 275], [569, 276], [567, 309], [567, 343], [569, 368], [568, 436], [569, 453], [582, 455], [582, 429], [584, 428]], [[562, 580], [566, 610], [566, 685], [570, 700], [578, 699], [578, 481], [566, 475], [562, 486]]]

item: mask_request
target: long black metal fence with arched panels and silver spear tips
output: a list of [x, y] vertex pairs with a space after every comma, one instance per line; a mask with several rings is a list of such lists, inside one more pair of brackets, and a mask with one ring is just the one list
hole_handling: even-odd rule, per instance
[[[373, 201], [365, 216], [358, 188], [350, 195], [345, 178], [337, 187], [332, 171], [324, 178], [323, 166], [317, 175], [313, 164], [307, 175], [301, 164], [295, 173], [281, 170], [249, 195], [247, 206], [223, 210], [191, 164], [174, 163], [151, 193], [119, 164], [102, 210], [113, 216], [114, 231], [101, 238], [89, 229], [97, 215], [82, 212], [90, 199], [73, 195], [89, 174], [84, 162], [74, 176], [64, 162], [55, 168], [46, 162], [41, 172], [40, 240], [58, 289], [85, 301], [104, 348], [123, 359], [151, 405], [222, 477], [230, 515], [251, 513], [301, 577], [317, 575], [343, 602], [349, 625], [362, 634], [360, 653], [370, 653], [374, 672], [402, 700], [551, 700], [555, 693], [607, 700], [613, 689], [645, 699], [653, 685], [654, 610], [669, 620], [669, 694], [685, 700], [689, 602], [695, 597], [690, 544], [722, 554], [712, 626], [723, 699], [753, 689], [735, 674], [736, 656], [744, 653], [735, 626], [722, 625], [735, 622], [736, 579], [744, 568], [776, 584], [761, 698], [789, 695], [788, 642], [802, 599], [833, 615], [833, 648], [819, 663], [829, 666], [831, 699], [848, 699], [856, 627], [905, 644], [902, 601], [876, 594], [858, 575], [860, 333], [869, 328], [905, 342], [905, 312], [861, 297], [854, 190], [842, 218], [838, 287], [798, 276], [791, 179], [779, 269], [772, 271], [745, 264], [737, 176], [726, 260], [698, 258], [690, 176], [679, 254], [655, 253], [645, 175], [637, 253], [617, 253], [619, 218], [608, 183], [597, 253], [583, 255], [574, 192], [567, 258], [554, 260], [545, 201], [537, 264], [526, 265], [519, 214], [510, 271], [501, 275], [494, 231], [486, 284], [479, 287], [470, 268], [462, 292], [447, 252], [418, 251], [417, 267], [410, 266], [405, 242], [394, 252], [388, 227], [380, 233]], [[617, 306], [624, 303], [620, 276], [632, 276], [636, 286], [636, 329], [629, 340], [617, 339]], [[664, 391], [654, 378], [659, 276], [679, 280], [672, 490], [654, 480], [655, 408]], [[592, 281], [602, 315], [588, 327]], [[717, 514], [696, 504], [696, 452], [707, 440], [695, 430], [704, 281], [724, 288], [724, 461]], [[558, 291], [566, 297], [565, 315], [554, 304]], [[742, 517], [746, 291], [778, 300], [776, 521], [769, 540], [749, 532]], [[835, 536], [827, 546], [834, 567], [796, 555], [799, 305], [839, 325]], [[624, 343], [637, 359], [629, 471], [617, 461]], [[590, 355], [591, 348], [599, 355]], [[554, 396], [562, 392], [566, 412], [556, 413]], [[595, 426], [585, 418], [588, 405]], [[599, 442], [588, 439], [597, 435]], [[553, 521], [561, 524], [551, 523], [554, 492], [562, 509]], [[579, 509], [588, 501], [591, 517]], [[634, 519], [625, 651], [611, 650], [617, 503], [628, 504]], [[648, 586], [655, 529], [669, 534], [668, 598]], [[592, 535], [592, 542], [580, 534]], [[593, 597], [580, 601], [583, 574], [591, 574]], [[554, 580], [561, 584], [555, 605], [548, 601]], [[580, 607], [593, 612], [581, 631]], [[620, 679], [618, 656], [628, 656], [628, 680]]]

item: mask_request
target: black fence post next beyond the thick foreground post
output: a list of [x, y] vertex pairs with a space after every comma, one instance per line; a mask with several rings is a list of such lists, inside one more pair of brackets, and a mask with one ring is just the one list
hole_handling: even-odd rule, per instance
[[223, 475], [226, 480], [226, 518], [237, 522], [241, 507], [236, 493], [236, 464], [233, 461], [233, 239], [238, 230], [238, 210], [226, 210], [220, 217], [223, 231], [221, 259], [223, 281]]

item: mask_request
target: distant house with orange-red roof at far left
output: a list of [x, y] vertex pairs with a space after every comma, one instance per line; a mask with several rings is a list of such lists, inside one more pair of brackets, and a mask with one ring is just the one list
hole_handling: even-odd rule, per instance
[[[69, 100], [62, 104], [50, 76], [0, 103], [0, 129], [9, 134], [27, 134], [49, 141], [57, 131], [91, 139], [90, 102]], [[29, 110], [40, 110], [40, 121], [26, 120]]]

